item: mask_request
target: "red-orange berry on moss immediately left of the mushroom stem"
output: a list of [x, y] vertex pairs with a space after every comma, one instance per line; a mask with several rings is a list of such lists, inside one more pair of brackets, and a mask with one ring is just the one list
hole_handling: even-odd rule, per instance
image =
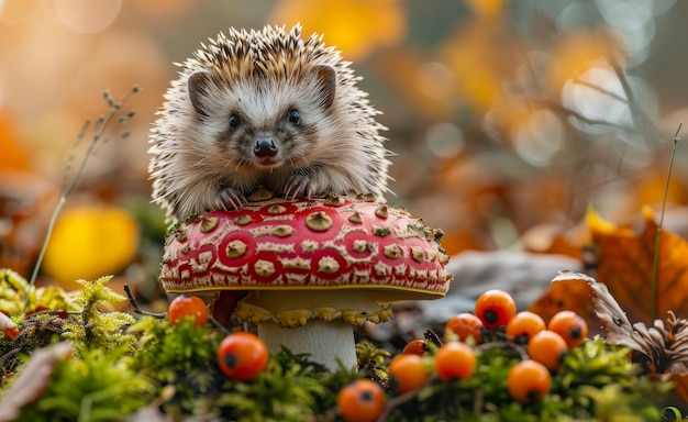
[[265, 344], [255, 334], [246, 332], [228, 335], [218, 347], [220, 369], [232, 379], [255, 379], [265, 369], [267, 358]]

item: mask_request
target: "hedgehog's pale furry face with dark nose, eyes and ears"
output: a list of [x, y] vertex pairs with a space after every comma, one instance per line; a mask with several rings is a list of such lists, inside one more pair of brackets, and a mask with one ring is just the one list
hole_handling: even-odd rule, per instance
[[218, 153], [237, 158], [236, 170], [292, 169], [318, 159], [320, 126], [336, 90], [334, 68], [315, 66], [287, 79], [238, 78], [223, 89], [217, 79], [207, 71], [190, 75], [189, 99], [213, 129]]

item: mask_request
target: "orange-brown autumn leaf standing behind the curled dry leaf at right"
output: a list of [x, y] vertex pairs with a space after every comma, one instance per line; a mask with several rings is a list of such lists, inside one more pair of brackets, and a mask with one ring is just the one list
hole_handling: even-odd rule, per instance
[[[597, 251], [596, 277], [628, 313], [629, 321], [653, 321], [668, 311], [688, 315], [688, 243], [668, 230], [659, 241], [656, 280], [656, 310], [652, 313], [652, 273], [657, 223], [648, 208], [644, 229], [635, 233], [603, 221], [595, 212], [587, 216], [592, 245]], [[590, 291], [578, 282], [552, 284], [548, 291], [530, 308], [545, 320], [567, 309], [582, 315], [595, 333], [599, 326], [591, 312]]]

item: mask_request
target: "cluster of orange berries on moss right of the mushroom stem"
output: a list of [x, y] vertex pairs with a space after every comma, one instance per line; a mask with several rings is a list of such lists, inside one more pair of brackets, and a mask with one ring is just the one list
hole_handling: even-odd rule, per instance
[[[420, 391], [435, 377], [443, 382], [468, 380], [481, 351], [513, 347], [522, 357], [509, 369], [508, 393], [515, 401], [533, 404], [550, 390], [552, 373], [559, 369], [569, 348], [579, 346], [587, 334], [585, 320], [575, 312], [562, 311], [545, 324], [533, 312], [517, 313], [509, 293], [488, 290], [477, 299], [474, 313], [459, 313], [445, 324], [443, 344], [409, 342], [389, 364], [389, 386], [395, 393], [404, 395]], [[379, 385], [358, 379], [340, 391], [337, 406], [345, 421], [375, 421], [385, 401]]]

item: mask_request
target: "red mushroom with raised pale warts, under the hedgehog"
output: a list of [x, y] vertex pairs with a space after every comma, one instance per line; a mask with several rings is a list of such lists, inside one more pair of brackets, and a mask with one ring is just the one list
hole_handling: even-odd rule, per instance
[[353, 368], [354, 325], [388, 321], [392, 302], [446, 293], [441, 236], [360, 197], [268, 199], [180, 224], [159, 280], [167, 292], [213, 293], [215, 316], [255, 323], [273, 353]]

